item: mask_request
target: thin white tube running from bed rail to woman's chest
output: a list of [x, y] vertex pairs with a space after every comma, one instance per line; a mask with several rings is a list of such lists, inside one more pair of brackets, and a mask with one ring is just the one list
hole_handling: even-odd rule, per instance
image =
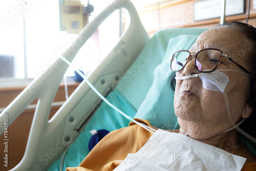
[[[71, 63], [68, 59], [66, 59], [63, 56], [59, 56], [60, 59], [62, 59], [63, 61], [65, 61], [69, 66], [71, 66]], [[124, 112], [122, 112], [121, 110], [119, 110], [115, 105], [113, 105], [111, 102], [109, 102], [109, 100], [107, 100], [94, 86], [93, 84], [86, 78], [86, 76], [84, 76], [79, 70], [75, 69], [75, 71], [84, 79], [84, 81], [86, 81], [86, 83], [88, 84], [88, 86], [91, 87], [91, 89], [104, 101], [106, 102], [106, 104], [108, 104], [109, 106], [111, 106], [111, 108], [113, 108], [114, 110], [116, 110], [118, 113], [120, 113], [121, 115], [123, 115], [126, 119], [140, 125], [141, 127], [143, 127], [145, 130], [154, 133], [156, 132], [155, 129], [153, 129], [150, 126], [144, 125], [140, 122], [137, 122], [136, 120], [134, 120], [132, 117], [130, 117], [129, 115], [126, 115]]]

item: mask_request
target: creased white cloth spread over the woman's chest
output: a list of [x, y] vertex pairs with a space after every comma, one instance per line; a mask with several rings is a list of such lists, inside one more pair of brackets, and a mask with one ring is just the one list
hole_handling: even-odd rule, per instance
[[245, 160], [193, 138], [158, 130], [115, 170], [241, 170]]

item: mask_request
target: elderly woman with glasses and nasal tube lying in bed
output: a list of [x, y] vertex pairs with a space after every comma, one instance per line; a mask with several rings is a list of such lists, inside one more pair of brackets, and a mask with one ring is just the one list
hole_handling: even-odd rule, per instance
[[[166, 141], [172, 142], [166, 145], [166, 151], [159, 151], [161, 154], [154, 151], [154, 148], [158, 151], [162, 147], [155, 146], [154, 143], [161, 144], [165, 137], [163, 134], [169, 137], [166, 131], [159, 133], [158, 130], [152, 135], [131, 122], [128, 127], [113, 131], [101, 140], [78, 167], [67, 170], [113, 170], [116, 167], [117, 170], [133, 170], [129, 169], [129, 165], [133, 163], [137, 165], [130, 168], [140, 170], [139, 160], [147, 150], [152, 152], [145, 156], [152, 155], [155, 158], [148, 160], [148, 164], [141, 162], [144, 169], [155, 170], [150, 163], [157, 161], [157, 165], [164, 170], [172, 170], [171, 166], [165, 164], [172, 162], [178, 162], [179, 167], [184, 163], [195, 165], [193, 170], [207, 170], [208, 167], [212, 170], [224, 170], [222, 165], [235, 161], [233, 165], [228, 166], [229, 169], [256, 170], [256, 157], [239, 141], [238, 131], [230, 129], [244, 118], [249, 118], [240, 127], [255, 137], [255, 41], [256, 29], [243, 23], [232, 22], [205, 31], [189, 51], [183, 50], [174, 54], [171, 69], [176, 72], [174, 107], [180, 130], [167, 130], [171, 138]], [[180, 57], [181, 53], [185, 56]], [[201, 73], [206, 73], [206, 77], [198, 77]], [[217, 80], [208, 81], [211, 77], [216, 77]], [[223, 90], [212, 90], [217, 84], [224, 85]], [[223, 98], [224, 93], [226, 98]], [[147, 120], [137, 121], [151, 126]], [[176, 141], [175, 138], [179, 140]], [[175, 146], [179, 148], [183, 141], [188, 143], [184, 143], [180, 149], [186, 149], [186, 146], [192, 144], [191, 149], [176, 153]], [[166, 143], [168, 142], [162, 144]], [[172, 150], [168, 151], [168, 148]], [[133, 156], [127, 160], [127, 154], [135, 153], [138, 154], [135, 158]], [[178, 153], [183, 154], [183, 161], [172, 157]], [[202, 160], [205, 158], [207, 161], [209, 158], [211, 162], [202, 164], [199, 162], [202, 156]], [[242, 160], [243, 162], [240, 162]], [[242, 166], [239, 166], [239, 163], [242, 163]]]

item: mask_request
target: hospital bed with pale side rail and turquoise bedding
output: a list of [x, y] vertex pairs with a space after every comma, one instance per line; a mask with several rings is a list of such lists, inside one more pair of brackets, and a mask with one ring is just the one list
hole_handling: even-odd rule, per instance
[[[170, 88], [174, 74], [169, 70], [170, 55], [189, 49], [206, 29], [166, 29], [150, 39], [133, 4], [128, 0], [115, 1], [84, 27], [61, 56], [72, 61], [103, 20], [119, 8], [129, 12], [130, 26], [88, 80], [127, 116], [148, 119], [161, 129], [178, 129], [174, 91]], [[84, 80], [48, 121], [55, 93], [68, 67], [58, 58], [1, 113], [1, 125], [5, 113], [11, 124], [38, 98], [24, 157], [12, 170], [65, 170], [77, 166], [89, 153], [90, 131], [113, 131], [129, 124]], [[0, 129], [2, 134], [4, 127]]]

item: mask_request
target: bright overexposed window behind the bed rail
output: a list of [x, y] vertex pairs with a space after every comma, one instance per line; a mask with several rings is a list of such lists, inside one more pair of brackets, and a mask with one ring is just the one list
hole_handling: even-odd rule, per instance
[[[92, 0], [90, 3], [94, 11], [89, 20], [110, 2]], [[0, 14], [3, 18], [0, 21], [0, 87], [28, 85], [77, 37], [77, 34], [60, 31], [58, 0], [3, 0]], [[115, 11], [81, 48], [73, 66], [92, 72], [118, 39], [119, 11]], [[66, 73], [69, 77], [73, 75], [70, 69]]]

